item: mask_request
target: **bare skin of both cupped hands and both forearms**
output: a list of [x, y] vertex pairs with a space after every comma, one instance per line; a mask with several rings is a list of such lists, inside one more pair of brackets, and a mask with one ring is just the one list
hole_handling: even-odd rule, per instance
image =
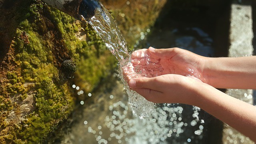
[[133, 52], [132, 63], [144, 64], [145, 56], [160, 60], [164, 72], [154, 78], [124, 72], [132, 90], [155, 103], [198, 106], [256, 142], [256, 106], [216, 89], [256, 89], [256, 56], [207, 58], [180, 48], [150, 47]]

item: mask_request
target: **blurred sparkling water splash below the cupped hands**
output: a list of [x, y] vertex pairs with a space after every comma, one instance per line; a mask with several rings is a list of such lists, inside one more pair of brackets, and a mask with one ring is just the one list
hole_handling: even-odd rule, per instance
[[194, 136], [186, 132], [192, 130], [196, 136], [202, 137], [204, 129], [200, 121], [194, 119], [190, 122], [183, 118], [184, 108], [175, 104], [158, 107], [144, 119], [131, 118], [130, 105], [122, 101], [110, 105], [109, 111], [100, 125], [93, 124], [93, 120], [84, 121], [88, 133], [94, 134], [98, 143], [187, 144]]

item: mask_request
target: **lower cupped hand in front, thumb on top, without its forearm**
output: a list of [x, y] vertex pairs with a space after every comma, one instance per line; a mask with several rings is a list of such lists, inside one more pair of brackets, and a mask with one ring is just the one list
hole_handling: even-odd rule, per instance
[[193, 76], [164, 74], [154, 78], [133, 78], [128, 81], [132, 90], [154, 103], [195, 105], [200, 87], [208, 85]]

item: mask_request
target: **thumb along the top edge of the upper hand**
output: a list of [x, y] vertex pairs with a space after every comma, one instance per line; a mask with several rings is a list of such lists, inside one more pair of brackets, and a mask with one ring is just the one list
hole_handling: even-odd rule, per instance
[[150, 54], [152, 54], [153, 56], [158, 56], [158, 57], [164, 57], [164, 58], [171, 58], [172, 56], [174, 56], [176, 54], [176, 50], [178, 50], [178, 48], [161, 48], [161, 49], [156, 49], [153, 47], [149, 47], [148, 51]]

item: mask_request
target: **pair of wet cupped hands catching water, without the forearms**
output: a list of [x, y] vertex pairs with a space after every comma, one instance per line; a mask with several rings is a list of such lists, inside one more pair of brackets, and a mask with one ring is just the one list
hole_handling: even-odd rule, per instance
[[[152, 71], [154, 64], [160, 65]], [[200, 85], [207, 85], [204, 77], [206, 58], [180, 48], [136, 50], [132, 53], [132, 67], [124, 67], [124, 77], [132, 90], [154, 103], [194, 104]], [[132, 69], [143, 67], [153, 76], [134, 78]], [[159, 71], [160, 69], [160, 71]], [[143, 73], [143, 72], [142, 72]], [[143, 75], [142, 75], [143, 76]]]

